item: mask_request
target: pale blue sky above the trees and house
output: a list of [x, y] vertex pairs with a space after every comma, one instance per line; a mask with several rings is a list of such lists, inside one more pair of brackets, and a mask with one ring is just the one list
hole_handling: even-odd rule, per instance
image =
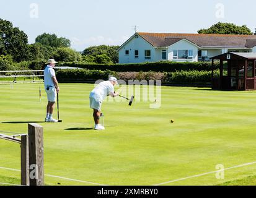
[[[31, 17], [33, 3], [38, 6], [36, 18]], [[219, 3], [224, 7], [216, 7]], [[255, 32], [255, 7], [254, 0], [0, 0], [0, 18], [27, 33], [29, 43], [44, 32], [56, 33], [82, 51], [93, 45], [121, 45], [133, 35], [134, 25], [138, 32], [196, 33], [221, 21]], [[219, 17], [219, 11], [224, 15]]]

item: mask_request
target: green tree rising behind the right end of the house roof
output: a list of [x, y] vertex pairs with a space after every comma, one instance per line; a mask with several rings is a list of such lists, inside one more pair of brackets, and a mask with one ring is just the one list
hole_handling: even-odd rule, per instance
[[252, 35], [252, 32], [246, 25], [237, 26], [230, 23], [214, 24], [208, 29], [198, 30], [198, 33], [213, 33], [213, 34], [226, 34], [226, 35]]

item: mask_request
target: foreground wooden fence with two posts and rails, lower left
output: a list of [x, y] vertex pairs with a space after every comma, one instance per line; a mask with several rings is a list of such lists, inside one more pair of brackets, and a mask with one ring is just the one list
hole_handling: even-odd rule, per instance
[[21, 185], [44, 186], [43, 127], [29, 124], [28, 131], [28, 134], [15, 136], [0, 134], [0, 139], [20, 144]]

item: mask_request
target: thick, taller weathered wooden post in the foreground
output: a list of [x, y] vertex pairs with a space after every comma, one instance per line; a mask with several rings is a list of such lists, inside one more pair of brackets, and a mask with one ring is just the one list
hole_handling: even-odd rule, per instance
[[30, 186], [44, 186], [43, 127], [29, 124], [29, 175]]

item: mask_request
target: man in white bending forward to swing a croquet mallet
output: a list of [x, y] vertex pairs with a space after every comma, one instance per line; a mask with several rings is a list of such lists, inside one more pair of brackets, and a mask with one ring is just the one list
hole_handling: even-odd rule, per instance
[[100, 82], [97, 87], [90, 92], [90, 108], [94, 110], [94, 122], [95, 122], [95, 130], [104, 130], [105, 127], [99, 124], [100, 121], [100, 111], [102, 101], [110, 95], [111, 97], [117, 97], [119, 93], [115, 93], [114, 86], [118, 84], [117, 79], [115, 77], [110, 77], [109, 80]]

